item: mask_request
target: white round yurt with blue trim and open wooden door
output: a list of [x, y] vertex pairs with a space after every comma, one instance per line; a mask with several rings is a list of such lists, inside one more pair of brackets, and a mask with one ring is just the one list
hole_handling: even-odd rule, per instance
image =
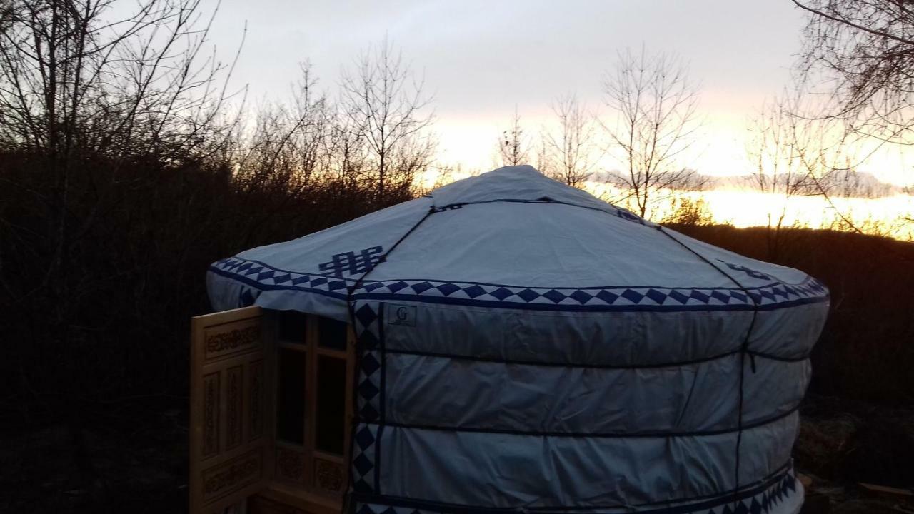
[[530, 166], [241, 252], [207, 287], [192, 509], [802, 506], [824, 285]]

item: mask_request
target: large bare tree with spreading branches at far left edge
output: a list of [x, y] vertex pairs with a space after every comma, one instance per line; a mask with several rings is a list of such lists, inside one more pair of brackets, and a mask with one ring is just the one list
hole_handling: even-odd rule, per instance
[[[136, 207], [124, 201], [127, 191], [165, 201], [159, 195], [174, 185], [171, 178], [198, 169], [221, 145], [218, 113], [227, 95], [217, 79], [227, 67], [207, 55], [213, 16], [198, 0], [0, 7], [0, 204], [16, 205], [0, 211], [0, 240], [15, 249], [0, 254], [0, 272], [28, 270], [0, 273], [0, 300], [4, 311], [15, 310], [16, 327], [25, 327], [14, 337], [21, 341], [18, 379], [36, 395], [29, 384], [50, 391], [80, 466], [80, 402], [98, 393], [90, 383], [111, 392], [90, 381], [85, 365], [105, 353], [102, 327], [136, 306], [96, 313], [94, 305], [105, 288], [128, 274], [144, 276], [149, 265], [148, 251], [131, 261], [137, 253], [123, 247], [101, 250], [100, 234], [113, 232], [115, 219], [133, 222], [115, 216]], [[144, 240], [154, 245], [149, 234]], [[174, 259], [183, 252], [175, 250]]]

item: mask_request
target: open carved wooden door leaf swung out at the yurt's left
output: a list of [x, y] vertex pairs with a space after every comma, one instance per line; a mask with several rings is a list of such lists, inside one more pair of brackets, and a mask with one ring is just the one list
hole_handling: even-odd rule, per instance
[[190, 514], [222, 512], [271, 475], [271, 340], [260, 307], [191, 322]]

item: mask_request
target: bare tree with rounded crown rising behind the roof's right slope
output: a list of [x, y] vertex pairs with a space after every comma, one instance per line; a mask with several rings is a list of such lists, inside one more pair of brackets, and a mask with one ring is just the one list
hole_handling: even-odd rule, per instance
[[633, 198], [638, 214], [647, 216], [651, 202], [676, 189], [704, 185], [682, 159], [699, 123], [697, 91], [679, 59], [626, 49], [606, 75], [603, 90], [614, 116], [602, 124], [623, 166], [610, 180]]

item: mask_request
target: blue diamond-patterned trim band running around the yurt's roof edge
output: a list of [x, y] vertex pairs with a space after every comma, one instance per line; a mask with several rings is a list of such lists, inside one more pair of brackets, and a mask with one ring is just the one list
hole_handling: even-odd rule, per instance
[[[315, 273], [271, 270], [259, 262], [232, 257], [210, 266], [218, 273], [239, 280], [260, 294], [271, 289], [295, 289], [346, 299], [349, 279], [328, 280]], [[749, 294], [747, 294], [749, 293]], [[812, 277], [800, 284], [751, 287], [524, 287], [506, 284], [476, 284], [434, 280], [365, 281], [353, 292], [353, 300], [404, 300], [426, 303], [484, 305], [506, 308], [590, 311], [684, 311], [774, 309], [790, 305], [825, 302], [828, 289]], [[250, 296], [246, 298], [250, 300]]]

